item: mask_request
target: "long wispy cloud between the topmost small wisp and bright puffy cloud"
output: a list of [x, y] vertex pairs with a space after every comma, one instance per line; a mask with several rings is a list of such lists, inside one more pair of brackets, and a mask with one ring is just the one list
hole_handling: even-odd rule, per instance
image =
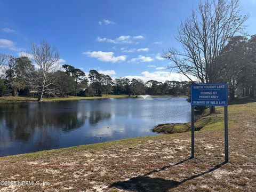
[[106, 37], [97, 37], [96, 41], [98, 42], [107, 42], [107, 43], [114, 43], [114, 44], [124, 44], [124, 43], [134, 43], [135, 39], [143, 39], [145, 37], [139, 36], [130, 36], [130, 35], [122, 35], [115, 39], [109, 39]]

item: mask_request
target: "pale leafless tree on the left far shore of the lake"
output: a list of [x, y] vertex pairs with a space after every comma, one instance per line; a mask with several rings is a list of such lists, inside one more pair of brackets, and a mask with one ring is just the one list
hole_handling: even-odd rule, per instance
[[58, 78], [54, 72], [59, 69], [59, 52], [46, 41], [39, 44], [32, 43], [30, 52], [37, 66], [35, 72], [29, 75], [29, 84], [38, 94], [38, 101], [42, 101], [43, 94], [46, 92], [54, 95], [53, 84]]

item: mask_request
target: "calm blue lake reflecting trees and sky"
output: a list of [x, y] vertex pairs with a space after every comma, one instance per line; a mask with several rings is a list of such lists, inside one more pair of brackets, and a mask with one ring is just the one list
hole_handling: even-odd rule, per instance
[[156, 135], [190, 121], [186, 97], [94, 99], [0, 105], [0, 156]]

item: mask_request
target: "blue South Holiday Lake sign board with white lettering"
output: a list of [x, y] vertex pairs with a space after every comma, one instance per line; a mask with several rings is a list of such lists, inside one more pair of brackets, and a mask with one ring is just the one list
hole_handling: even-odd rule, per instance
[[192, 84], [191, 106], [228, 106], [228, 84]]

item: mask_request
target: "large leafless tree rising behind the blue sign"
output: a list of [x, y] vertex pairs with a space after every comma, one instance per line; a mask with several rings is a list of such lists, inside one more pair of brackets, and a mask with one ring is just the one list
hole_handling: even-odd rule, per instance
[[[249, 14], [241, 15], [239, 0], [213, 0], [200, 2], [198, 9], [182, 22], [176, 39], [183, 50], [170, 48], [163, 58], [171, 60], [169, 69], [178, 69], [190, 81], [194, 76], [201, 83], [218, 82], [214, 62], [230, 38], [238, 33], [245, 34], [244, 22]], [[214, 113], [214, 107], [210, 112]]]

